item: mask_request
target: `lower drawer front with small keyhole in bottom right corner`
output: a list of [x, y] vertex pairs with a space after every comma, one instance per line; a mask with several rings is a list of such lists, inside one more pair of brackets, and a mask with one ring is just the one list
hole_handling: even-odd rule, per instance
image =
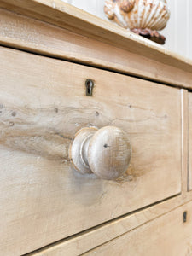
[[[187, 221], [183, 222], [183, 212]], [[162, 256], [192, 254], [192, 202], [156, 218], [136, 230], [96, 247], [88, 255]]]

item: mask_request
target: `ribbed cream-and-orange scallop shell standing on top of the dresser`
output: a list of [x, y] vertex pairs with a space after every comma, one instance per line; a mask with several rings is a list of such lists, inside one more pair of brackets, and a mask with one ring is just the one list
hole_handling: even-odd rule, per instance
[[[129, 11], [122, 8], [122, 3], [130, 6]], [[134, 6], [131, 6], [134, 5]], [[104, 11], [110, 20], [125, 28], [148, 28], [160, 31], [166, 26], [170, 10], [166, 0], [106, 0]]]

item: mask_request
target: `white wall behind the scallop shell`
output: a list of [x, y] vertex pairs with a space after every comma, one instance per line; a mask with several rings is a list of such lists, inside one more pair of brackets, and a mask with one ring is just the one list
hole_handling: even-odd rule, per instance
[[[104, 0], [62, 0], [92, 15], [108, 20], [103, 13]], [[171, 18], [161, 33], [166, 36], [166, 49], [192, 59], [192, 0], [167, 0]]]

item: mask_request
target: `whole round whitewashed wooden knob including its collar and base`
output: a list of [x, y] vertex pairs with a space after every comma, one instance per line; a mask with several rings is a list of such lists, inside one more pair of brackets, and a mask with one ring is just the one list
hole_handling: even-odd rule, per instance
[[79, 172], [113, 180], [126, 172], [131, 144], [125, 131], [117, 127], [83, 128], [74, 137], [70, 156]]

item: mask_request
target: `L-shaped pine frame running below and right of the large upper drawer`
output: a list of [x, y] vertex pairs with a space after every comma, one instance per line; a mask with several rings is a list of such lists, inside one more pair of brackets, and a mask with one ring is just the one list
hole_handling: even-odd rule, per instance
[[[96, 229], [84, 231], [79, 236], [74, 236], [69, 240], [56, 242], [51, 247], [45, 247], [38, 252], [32, 253], [34, 256], [73, 256], [90, 251], [128, 231], [136, 229], [142, 224], [160, 217], [166, 212], [171, 212], [175, 208], [192, 200], [192, 193], [187, 192], [188, 174], [188, 91], [181, 91], [182, 102], [182, 193], [170, 200], [162, 201], [147, 207], [133, 214], [127, 214], [115, 219], [108, 224], [102, 224]], [[31, 255], [31, 254], [30, 254]]]

